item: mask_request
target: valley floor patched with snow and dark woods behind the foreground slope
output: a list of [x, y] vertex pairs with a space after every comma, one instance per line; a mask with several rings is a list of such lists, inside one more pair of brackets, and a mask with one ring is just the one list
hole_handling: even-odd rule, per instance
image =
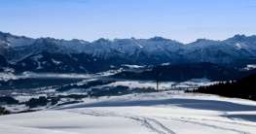
[[[113, 78], [119, 70], [98, 74], [2, 74], [1, 106], [13, 114], [81, 103], [86, 98], [122, 96], [161, 91], [184, 92], [217, 84], [206, 78], [185, 82], [156, 82]], [[157, 84], [158, 83], [158, 84]]]

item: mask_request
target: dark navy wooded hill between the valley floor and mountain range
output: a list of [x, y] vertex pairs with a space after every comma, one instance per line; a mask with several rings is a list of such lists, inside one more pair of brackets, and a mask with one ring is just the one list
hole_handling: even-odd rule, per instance
[[155, 66], [145, 71], [123, 71], [114, 76], [115, 79], [147, 80], [164, 82], [184, 82], [191, 79], [207, 78], [212, 81], [236, 80], [253, 74], [254, 71], [240, 71], [235, 67], [228, 67], [213, 63], [183, 63]]

